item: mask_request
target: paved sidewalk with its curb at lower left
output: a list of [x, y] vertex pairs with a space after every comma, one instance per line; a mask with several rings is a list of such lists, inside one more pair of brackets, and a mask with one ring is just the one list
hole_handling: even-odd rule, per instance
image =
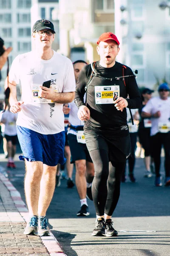
[[0, 256], [66, 256], [51, 236], [24, 235], [28, 209], [0, 165]]

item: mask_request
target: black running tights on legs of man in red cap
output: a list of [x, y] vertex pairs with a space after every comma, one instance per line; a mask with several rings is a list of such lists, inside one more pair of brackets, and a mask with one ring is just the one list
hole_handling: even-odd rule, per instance
[[92, 195], [96, 214], [111, 216], [119, 200], [125, 163], [109, 162], [108, 152], [104, 149], [90, 151], [90, 156], [95, 168]]

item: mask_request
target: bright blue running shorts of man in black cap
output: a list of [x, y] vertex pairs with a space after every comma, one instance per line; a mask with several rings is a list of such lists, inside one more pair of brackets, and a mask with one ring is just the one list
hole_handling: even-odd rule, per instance
[[65, 131], [44, 135], [18, 125], [17, 135], [23, 151], [20, 160], [40, 161], [48, 166], [65, 163]]

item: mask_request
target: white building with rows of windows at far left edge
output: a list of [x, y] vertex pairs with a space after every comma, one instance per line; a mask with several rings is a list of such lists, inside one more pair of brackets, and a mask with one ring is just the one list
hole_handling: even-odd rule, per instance
[[[0, 37], [6, 47], [13, 47], [9, 64], [23, 52], [31, 50], [31, 0], [0, 0]], [[3, 67], [0, 82], [0, 98], [4, 98], [3, 87], [7, 68]]]

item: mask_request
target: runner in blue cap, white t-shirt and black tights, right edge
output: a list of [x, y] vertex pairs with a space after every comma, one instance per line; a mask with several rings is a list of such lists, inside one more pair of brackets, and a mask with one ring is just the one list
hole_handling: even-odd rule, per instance
[[150, 99], [142, 109], [141, 116], [151, 117], [152, 127], [150, 131], [151, 146], [155, 164], [156, 179], [155, 185], [162, 186], [160, 165], [161, 147], [165, 152], [165, 186], [170, 186], [170, 97], [167, 83], [161, 84], [158, 88], [159, 96]]

